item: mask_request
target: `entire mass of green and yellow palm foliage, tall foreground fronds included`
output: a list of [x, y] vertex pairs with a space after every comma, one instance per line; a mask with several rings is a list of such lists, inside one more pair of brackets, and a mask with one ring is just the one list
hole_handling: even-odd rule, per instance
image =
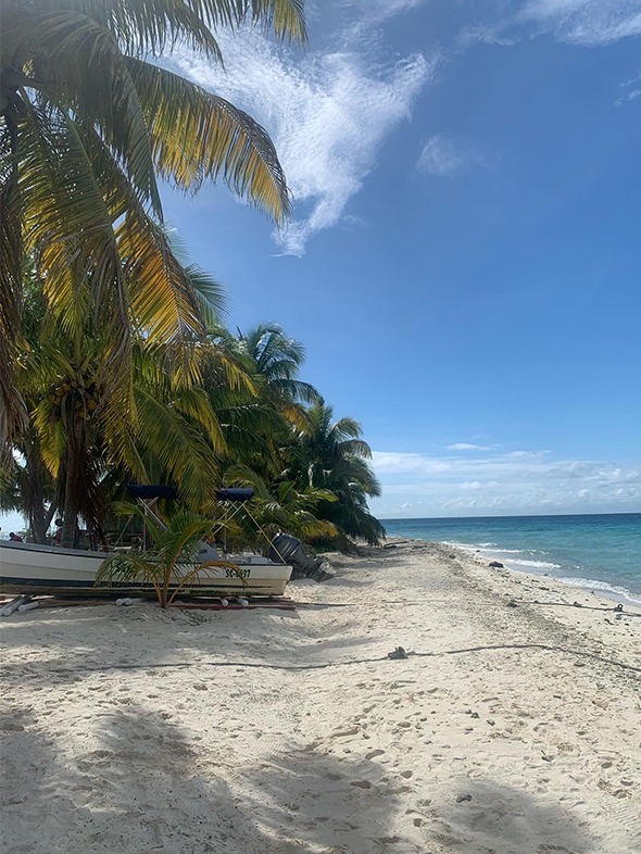
[[[100, 535], [128, 480], [175, 483], [181, 512], [210, 517], [216, 487], [243, 483], [269, 533], [377, 542], [367, 499], [380, 490], [359, 424], [332, 423], [280, 326], [224, 327], [224, 289], [183, 256], [158, 189], [159, 176], [188, 193], [222, 179], [277, 222], [288, 215], [264, 128], [154, 60], [179, 41], [219, 62], [217, 28], [248, 20], [302, 43], [302, 0], [0, 9], [4, 506], [21, 507], [38, 542], [62, 514], [66, 541], [78, 516]], [[227, 533], [263, 545], [249, 516]]]

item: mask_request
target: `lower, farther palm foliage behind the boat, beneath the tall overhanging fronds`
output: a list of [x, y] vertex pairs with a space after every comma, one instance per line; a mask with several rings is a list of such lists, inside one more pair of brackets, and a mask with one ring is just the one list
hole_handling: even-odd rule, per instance
[[[17, 378], [30, 426], [16, 449], [24, 455], [30, 436], [32, 467], [39, 454], [48, 485], [35, 502], [40, 516], [50, 520], [58, 505], [60, 515], [75, 519], [77, 513], [100, 531], [110, 502], [133, 480], [178, 485], [186, 511], [215, 519], [214, 490], [228, 485], [255, 491], [225, 530], [231, 548], [266, 549], [254, 519], [267, 539], [285, 530], [317, 548], [345, 549], [353, 539], [375, 543], [384, 536], [367, 510], [379, 486], [360, 425], [332, 422], [331, 409], [299, 378], [303, 348], [276, 324], [234, 336], [216, 315], [216, 332], [198, 350], [198, 385], [177, 379], [162, 350], [135, 340], [134, 406], [123, 410], [117, 397], [104, 393], [104, 337], [91, 323], [67, 332], [38, 292], [34, 284], [25, 301], [28, 347]], [[72, 505], [65, 503], [70, 481]], [[26, 470], [14, 472], [12, 482], [8, 500], [11, 492], [14, 506], [33, 505]]]

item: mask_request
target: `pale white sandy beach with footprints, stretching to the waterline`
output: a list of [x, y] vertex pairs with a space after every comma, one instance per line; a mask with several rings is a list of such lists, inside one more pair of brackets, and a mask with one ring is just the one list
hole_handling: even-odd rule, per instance
[[641, 617], [487, 563], [415, 543], [288, 589], [343, 607], [5, 618], [1, 851], [641, 852]]

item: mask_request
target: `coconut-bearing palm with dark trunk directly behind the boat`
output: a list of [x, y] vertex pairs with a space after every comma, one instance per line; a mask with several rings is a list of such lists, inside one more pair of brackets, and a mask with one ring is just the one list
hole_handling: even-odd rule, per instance
[[[202, 272], [199, 275], [200, 290], [215, 293], [213, 284]], [[163, 351], [150, 352], [147, 342], [136, 337], [131, 341], [135, 409], [123, 411], [120, 399], [104, 392], [109, 360], [100, 327], [88, 318], [68, 329], [47, 309], [33, 269], [25, 280], [24, 349], [16, 380], [28, 405], [29, 427], [21, 431], [15, 447], [25, 461], [29, 520], [45, 514], [37, 487], [47, 476], [55, 481], [48, 520], [58, 507], [65, 544], [75, 538], [78, 515], [100, 530], [111, 497], [103, 480], [110, 474], [110, 486], [130, 479], [177, 482], [183, 499], [194, 510], [210, 501], [219, 481], [225, 440], [205, 391], [174, 382]], [[201, 361], [215, 362], [218, 355], [206, 342], [199, 349]], [[11, 472], [10, 480], [15, 480], [22, 468], [14, 465]], [[27, 493], [22, 492], [26, 501]], [[34, 524], [32, 529], [41, 541], [43, 532], [36, 532]]]

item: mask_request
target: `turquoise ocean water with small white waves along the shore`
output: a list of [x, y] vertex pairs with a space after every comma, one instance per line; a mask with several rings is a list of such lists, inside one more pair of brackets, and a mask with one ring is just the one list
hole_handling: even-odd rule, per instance
[[448, 542], [512, 569], [641, 604], [641, 513], [384, 519], [389, 537]]

